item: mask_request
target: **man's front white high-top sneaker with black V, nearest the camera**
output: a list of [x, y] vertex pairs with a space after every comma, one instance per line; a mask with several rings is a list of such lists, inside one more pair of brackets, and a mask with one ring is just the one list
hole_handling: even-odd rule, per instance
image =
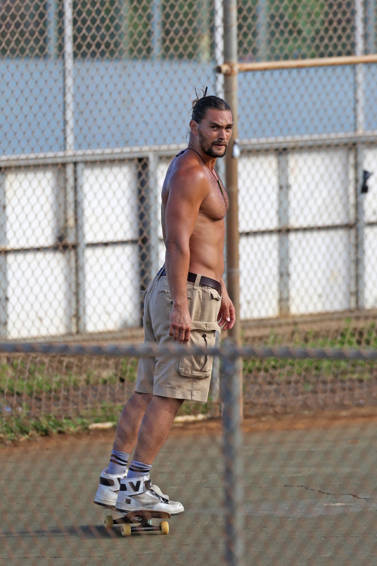
[[158, 486], [151, 484], [149, 474], [140, 478], [122, 478], [119, 486], [116, 511], [167, 511], [171, 515], [184, 512], [179, 501], [170, 501]]

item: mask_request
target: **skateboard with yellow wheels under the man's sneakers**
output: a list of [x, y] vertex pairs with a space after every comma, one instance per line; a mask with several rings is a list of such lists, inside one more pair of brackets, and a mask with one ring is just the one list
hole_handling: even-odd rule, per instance
[[152, 519], [168, 519], [170, 513], [166, 511], [129, 511], [123, 517], [114, 518], [112, 515], [105, 517], [105, 529], [120, 527], [123, 537], [131, 534], [168, 534], [169, 524], [161, 521], [159, 525], [153, 525]]

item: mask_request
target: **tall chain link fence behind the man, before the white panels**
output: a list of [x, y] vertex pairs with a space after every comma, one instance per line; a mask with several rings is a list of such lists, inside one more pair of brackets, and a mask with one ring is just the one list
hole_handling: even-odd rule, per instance
[[[140, 341], [139, 291], [164, 259], [164, 175], [185, 147], [194, 87], [223, 93], [215, 72], [223, 63], [223, 4], [1, 6], [0, 336]], [[371, 0], [240, 1], [239, 61], [374, 53], [375, 12]], [[239, 74], [245, 344], [376, 347], [375, 70]], [[218, 169], [224, 178], [223, 162]], [[22, 363], [25, 369], [19, 360], [5, 363], [4, 407], [38, 407], [42, 415], [60, 406], [71, 414], [72, 386], [62, 386], [58, 398], [43, 379], [65, 383], [64, 371]], [[97, 387], [98, 399], [106, 390], [109, 407], [116, 405], [132, 388], [136, 363], [91, 368], [87, 385]], [[365, 393], [372, 368], [346, 376], [336, 364], [280, 366], [245, 362], [245, 414], [285, 410], [299, 398], [322, 406], [318, 387], [324, 405], [336, 404], [339, 387], [345, 403], [349, 391], [357, 392], [352, 404], [373, 398]], [[276, 393], [276, 402], [266, 402], [266, 383], [275, 392], [289, 385], [296, 401], [281, 405]], [[210, 405], [193, 412], [219, 414], [217, 392], [214, 379]], [[79, 397], [92, 406], [85, 389]]]

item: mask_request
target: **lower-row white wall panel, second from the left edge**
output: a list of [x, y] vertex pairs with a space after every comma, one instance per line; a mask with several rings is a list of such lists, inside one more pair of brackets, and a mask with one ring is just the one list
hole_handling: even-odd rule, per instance
[[86, 332], [137, 326], [140, 322], [139, 284], [136, 245], [86, 248]]

